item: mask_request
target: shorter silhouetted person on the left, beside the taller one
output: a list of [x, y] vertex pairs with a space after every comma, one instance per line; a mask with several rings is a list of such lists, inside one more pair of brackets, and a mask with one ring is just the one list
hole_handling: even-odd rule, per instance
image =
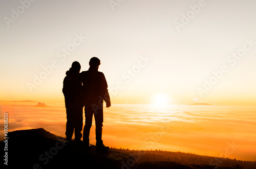
[[78, 62], [73, 62], [67, 76], [63, 80], [62, 92], [65, 97], [67, 112], [66, 138], [67, 142], [72, 140], [75, 130], [75, 142], [81, 142], [82, 131], [82, 83], [80, 79], [81, 66]]

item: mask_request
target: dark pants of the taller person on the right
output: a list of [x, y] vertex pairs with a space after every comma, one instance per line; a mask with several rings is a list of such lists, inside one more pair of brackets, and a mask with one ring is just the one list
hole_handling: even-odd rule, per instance
[[86, 115], [86, 124], [83, 128], [83, 142], [89, 144], [90, 129], [92, 127], [94, 115], [96, 126], [96, 145], [102, 144], [103, 106], [94, 103], [87, 103], [84, 107], [84, 114]]

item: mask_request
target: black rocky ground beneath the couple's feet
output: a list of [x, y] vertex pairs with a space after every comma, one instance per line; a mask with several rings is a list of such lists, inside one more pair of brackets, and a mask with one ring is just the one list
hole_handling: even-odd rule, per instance
[[13, 131], [8, 133], [8, 137], [8, 142], [2, 141], [0, 144], [4, 159], [1, 165], [4, 168], [241, 168], [172, 161], [138, 162], [135, 156], [113, 149], [99, 153], [93, 145], [91, 150], [86, 150], [81, 144], [66, 143], [66, 138], [43, 128]]

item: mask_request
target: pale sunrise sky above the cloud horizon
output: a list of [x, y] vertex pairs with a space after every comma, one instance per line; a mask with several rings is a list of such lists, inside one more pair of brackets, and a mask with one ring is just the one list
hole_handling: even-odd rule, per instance
[[256, 106], [255, 1], [0, 2], [0, 100], [64, 102], [101, 60], [113, 103]]

